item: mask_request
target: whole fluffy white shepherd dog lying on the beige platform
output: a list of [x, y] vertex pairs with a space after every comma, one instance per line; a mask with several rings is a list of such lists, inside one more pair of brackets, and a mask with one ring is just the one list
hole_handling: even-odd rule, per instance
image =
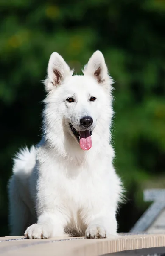
[[100, 51], [83, 74], [50, 56], [42, 140], [20, 150], [9, 181], [12, 236], [117, 235], [122, 184], [112, 164], [112, 78]]

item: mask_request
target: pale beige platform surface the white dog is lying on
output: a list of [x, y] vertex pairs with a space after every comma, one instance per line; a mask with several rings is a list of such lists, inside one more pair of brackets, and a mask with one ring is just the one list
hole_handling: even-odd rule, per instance
[[165, 234], [119, 234], [108, 239], [56, 237], [24, 239], [0, 237], [0, 256], [101, 256], [115, 252], [151, 247], [164, 247]]

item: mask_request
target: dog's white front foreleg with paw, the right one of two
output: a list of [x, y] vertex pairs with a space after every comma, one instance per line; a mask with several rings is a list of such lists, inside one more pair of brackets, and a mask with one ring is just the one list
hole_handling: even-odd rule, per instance
[[117, 221], [115, 212], [106, 215], [91, 215], [89, 218], [86, 238], [106, 238], [117, 235]]

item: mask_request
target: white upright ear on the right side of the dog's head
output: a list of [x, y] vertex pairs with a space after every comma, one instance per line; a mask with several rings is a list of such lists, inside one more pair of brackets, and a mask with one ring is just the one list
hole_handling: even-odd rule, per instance
[[93, 76], [98, 84], [106, 85], [108, 88], [113, 83], [112, 78], [108, 74], [103, 54], [100, 51], [93, 53], [87, 65], [85, 65], [83, 73], [84, 75]]

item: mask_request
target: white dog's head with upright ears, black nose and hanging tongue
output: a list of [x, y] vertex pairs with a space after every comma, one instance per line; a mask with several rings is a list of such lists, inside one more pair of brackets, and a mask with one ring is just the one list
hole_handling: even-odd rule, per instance
[[62, 118], [64, 131], [67, 130], [83, 150], [89, 150], [97, 123], [109, 122], [109, 112], [106, 113], [106, 110], [111, 110], [109, 100], [112, 79], [100, 51], [92, 55], [83, 73], [84, 76], [73, 76], [73, 70], [70, 70], [64, 59], [53, 52], [45, 79], [48, 92], [45, 102], [52, 106], [49, 108], [50, 113], [47, 113], [51, 115], [50, 122]]

